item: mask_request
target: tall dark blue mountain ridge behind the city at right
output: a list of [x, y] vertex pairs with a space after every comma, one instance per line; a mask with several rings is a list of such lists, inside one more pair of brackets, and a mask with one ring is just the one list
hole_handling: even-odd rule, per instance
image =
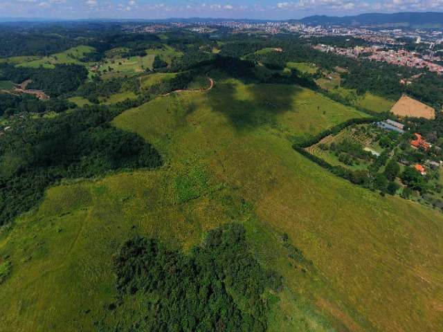
[[443, 12], [397, 12], [394, 14], [368, 13], [356, 16], [330, 17], [315, 15], [298, 20], [304, 24], [443, 28]]

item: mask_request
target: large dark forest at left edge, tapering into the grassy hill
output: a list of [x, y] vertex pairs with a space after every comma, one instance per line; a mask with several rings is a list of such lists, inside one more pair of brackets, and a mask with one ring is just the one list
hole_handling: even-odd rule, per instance
[[106, 107], [84, 107], [52, 119], [26, 119], [3, 135], [0, 224], [32, 208], [61, 178], [161, 165], [154, 147], [134, 133], [111, 127], [114, 116]]

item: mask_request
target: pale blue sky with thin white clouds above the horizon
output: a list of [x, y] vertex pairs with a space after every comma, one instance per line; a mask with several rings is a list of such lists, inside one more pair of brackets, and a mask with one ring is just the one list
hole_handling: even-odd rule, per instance
[[443, 0], [0, 0], [0, 17], [290, 19], [361, 12], [443, 11]]

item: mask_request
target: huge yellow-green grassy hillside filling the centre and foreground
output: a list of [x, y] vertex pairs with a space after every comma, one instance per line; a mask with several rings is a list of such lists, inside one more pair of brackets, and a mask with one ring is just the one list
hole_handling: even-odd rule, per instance
[[[359, 116], [306, 89], [236, 80], [126, 111], [114, 125], [152, 142], [165, 165], [53, 187], [2, 230], [0, 257], [12, 268], [0, 285], [0, 331], [123, 324], [108, 307], [112, 255], [125, 239], [187, 250], [232, 220], [284, 278], [269, 331], [438, 331], [443, 216], [351, 185], [291, 148]], [[312, 265], [289, 257], [283, 233]]]

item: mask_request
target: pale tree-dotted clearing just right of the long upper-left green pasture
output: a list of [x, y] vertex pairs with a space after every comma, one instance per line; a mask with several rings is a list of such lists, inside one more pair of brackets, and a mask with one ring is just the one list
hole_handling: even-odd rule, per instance
[[146, 69], [152, 69], [153, 62], [153, 55], [145, 55], [144, 57], [113, 58], [100, 66], [100, 72], [103, 73], [109, 71], [109, 68], [112, 68], [111, 71], [109, 71], [110, 73], [134, 75], [136, 73], [142, 73]]

